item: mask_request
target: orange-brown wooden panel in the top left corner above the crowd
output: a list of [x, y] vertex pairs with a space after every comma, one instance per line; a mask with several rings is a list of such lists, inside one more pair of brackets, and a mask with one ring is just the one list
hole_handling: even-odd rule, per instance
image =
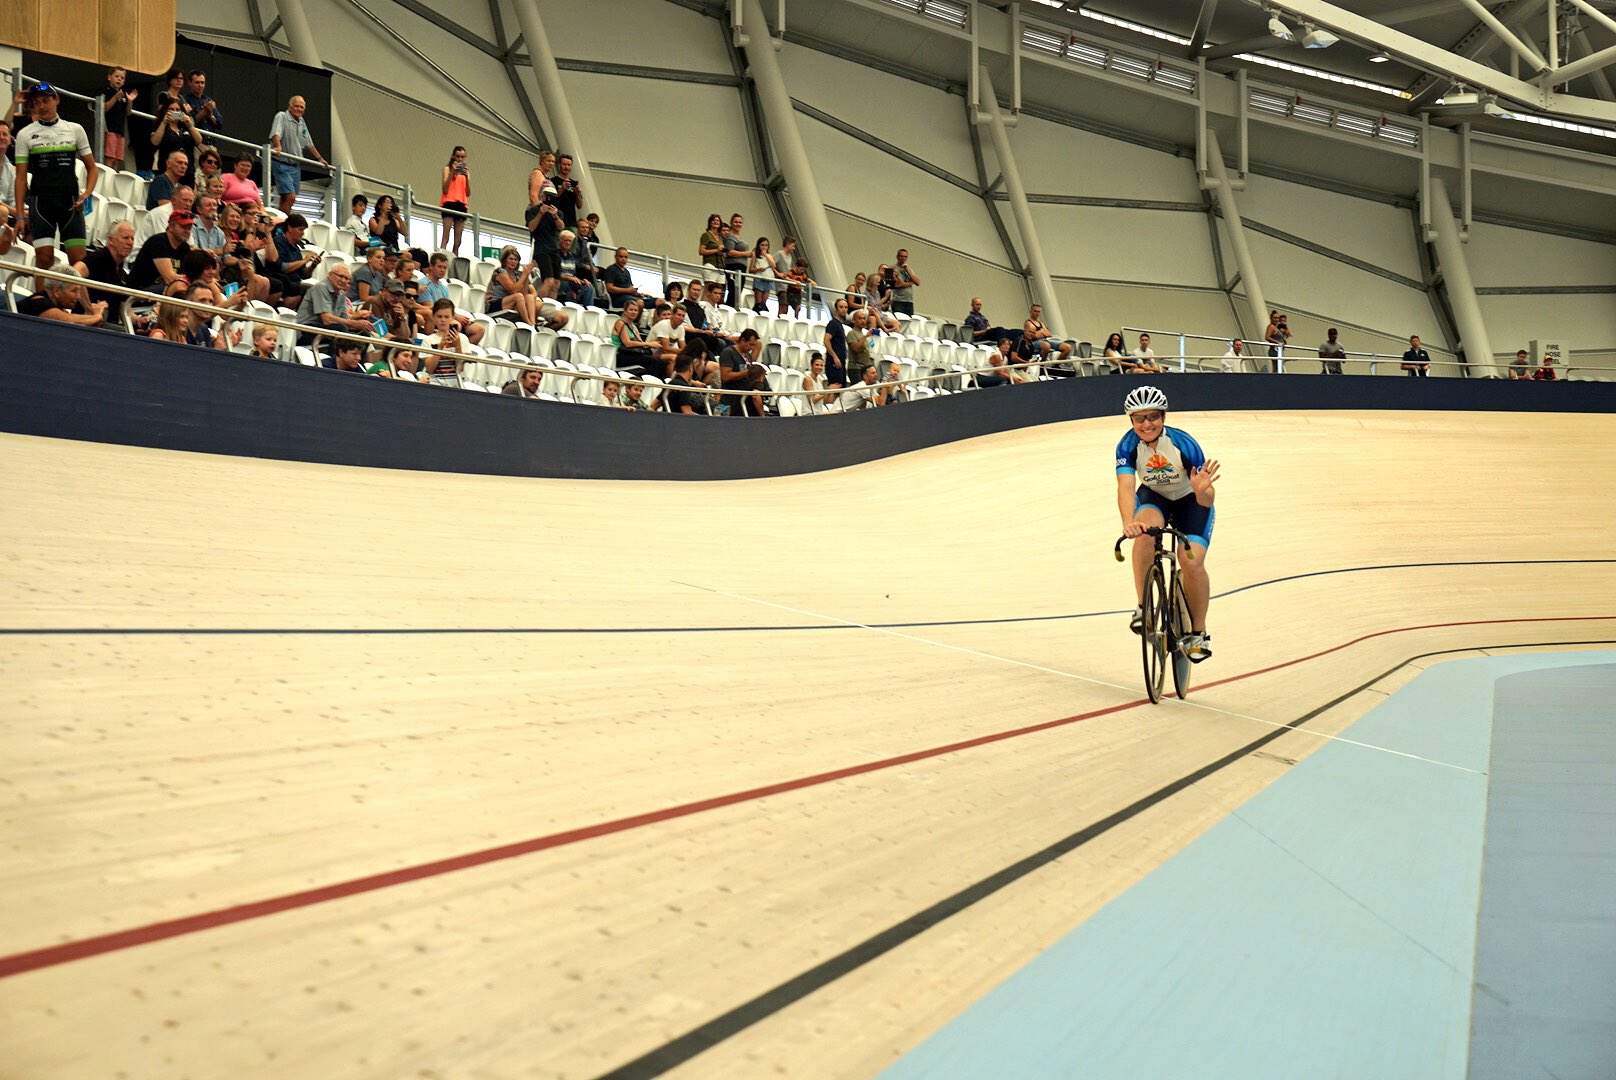
[[0, 0], [0, 42], [131, 71], [175, 60], [176, 0]]

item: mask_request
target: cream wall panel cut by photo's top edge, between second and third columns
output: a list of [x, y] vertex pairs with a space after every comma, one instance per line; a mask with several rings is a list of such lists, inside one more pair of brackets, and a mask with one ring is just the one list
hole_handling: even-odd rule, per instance
[[[475, 3], [459, 0], [449, 6], [457, 11]], [[501, 10], [506, 32], [516, 37], [520, 23], [511, 0], [501, 0]], [[549, 47], [561, 58], [730, 71], [726, 24], [667, 0], [538, 0], [538, 11]]]

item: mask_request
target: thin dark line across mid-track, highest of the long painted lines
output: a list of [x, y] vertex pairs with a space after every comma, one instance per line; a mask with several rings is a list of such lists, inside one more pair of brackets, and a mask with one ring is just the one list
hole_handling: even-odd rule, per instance
[[[1343, 566], [1333, 571], [1309, 571], [1272, 577], [1251, 585], [1212, 593], [1214, 600], [1233, 597], [1251, 589], [1283, 585], [1304, 577], [1328, 577], [1332, 574], [1362, 574], [1369, 571], [1408, 571], [1445, 566], [1589, 566], [1608, 564], [1616, 559], [1461, 559], [1453, 563], [1387, 563], [1383, 566]], [[325, 637], [325, 635], [375, 635], [414, 637], [425, 634], [764, 634], [782, 631], [918, 631], [934, 626], [999, 626], [1005, 622], [1060, 622], [1070, 619], [1096, 619], [1110, 614], [1128, 614], [1128, 608], [1110, 611], [1073, 611], [1070, 614], [1013, 614], [994, 619], [926, 619], [918, 622], [803, 622], [782, 626], [349, 626], [349, 627], [252, 627], [252, 626], [61, 626], [61, 627], [0, 627], [0, 637]]]

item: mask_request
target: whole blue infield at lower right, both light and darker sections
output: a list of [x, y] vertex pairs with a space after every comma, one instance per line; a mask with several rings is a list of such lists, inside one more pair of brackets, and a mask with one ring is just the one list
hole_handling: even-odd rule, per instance
[[[1611, 804], [1616, 695], [1584, 686], [1610, 686], [1613, 661], [1427, 669], [1343, 732], [1414, 757], [1320, 747], [882, 1075], [1616, 1077], [1610, 968], [1582, 970], [1613, 956], [1616, 931], [1616, 894], [1590, 892], [1616, 867], [1616, 828], [1597, 812]], [[1542, 684], [1522, 697], [1519, 673]], [[1495, 684], [1509, 703], [1496, 742]], [[1545, 742], [1551, 729], [1564, 737]], [[1568, 753], [1603, 765], [1568, 770]], [[1524, 797], [1558, 834], [1522, 823]], [[1511, 842], [1483, 860], [1488, 829]], [[1522, 904], [1524, 873], [1547, 875], [1538, 896], [1556, 902]], [[1479, 939], [1483, 909], [1495, 918]], [[1555, 978], [1530, 962], [1543, 934], [1572, 946], [1555, 952]], [[1488, 998], [1495, 983], [1516, 998]], [[1582, 1004], [1566, 1023], [1550, 988], [1571, 985]], [[1501, 1048], [1508, 1069], [1571, 1072], [1498, 1072]]]

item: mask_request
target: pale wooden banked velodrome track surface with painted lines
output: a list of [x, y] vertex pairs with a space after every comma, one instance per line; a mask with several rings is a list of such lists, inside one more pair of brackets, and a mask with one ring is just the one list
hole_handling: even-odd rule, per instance
[[0, 1080], [873, 1075], [1419, 666], [1616, 639], [1608, 417], [1173, 422], [1230, 595], [1155, 708], [1120, 419], [724, 483], [0, 437]]

